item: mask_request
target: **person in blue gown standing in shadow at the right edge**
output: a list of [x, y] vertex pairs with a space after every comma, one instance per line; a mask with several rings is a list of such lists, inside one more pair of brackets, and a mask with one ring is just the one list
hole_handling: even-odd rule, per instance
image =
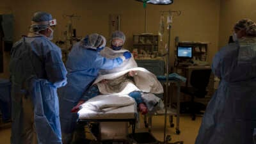
[[256, 128], [256, 24], [239, 20], [234, 43], [214, 56], [212, 72], [220, 77], [200, 126], [196, 144], [252, 144]]

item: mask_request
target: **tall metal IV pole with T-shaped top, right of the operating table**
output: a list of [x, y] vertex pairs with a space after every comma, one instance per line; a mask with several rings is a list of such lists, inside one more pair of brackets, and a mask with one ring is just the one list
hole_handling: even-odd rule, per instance
[[[165, 106], [165, 109], [164, 109], [164, 141], [163, 141], [163, 144], [166, 144], [168, 143], [167, 141], [169, 141], [171, 138], [170, 136], [166, 137], [166, 119], [167, 119], [167, 97], [169, 95], [168, 93], [168, 83], [169, 83], [169, 78], [168, 78], [168, 74], [169, 74], [169, 58], [170, 58], [170, 38], [171, 38], [171, 28], [172, 28], [172, 13], [175, 13], [176, 15], [180, 15], [181, 12], [180, 11], [171, 11], [171, 10], [168, 10], [168, 11], [161, 11], [162, 14], [164, 13], [168, 13], [168, 20], [170, 20], [168, 22], [168, 46], [166, 48], [166, 54], [163, 54], [163, 56], [166, 56], [167, 57], [167, 60], [166, 60], [166, 96], [164, 97], [164, 106]], [[182, 144], [183, 141], [177, 141], [175, 143], [180, 143]], [[168, 144], [175, 144], [175, 143], [168, 143]]]

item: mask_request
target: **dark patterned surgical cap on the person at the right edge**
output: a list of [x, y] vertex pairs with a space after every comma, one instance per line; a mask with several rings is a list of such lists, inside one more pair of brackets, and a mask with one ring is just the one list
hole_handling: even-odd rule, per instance
[[250, 19], [239, 20], [235, 24], [234, 29], [245, 29], [247, 36], [256, 36], [256, 24]]

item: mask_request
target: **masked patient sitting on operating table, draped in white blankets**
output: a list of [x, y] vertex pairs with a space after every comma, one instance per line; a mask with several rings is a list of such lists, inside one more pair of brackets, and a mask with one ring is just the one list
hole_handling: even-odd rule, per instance
[[[124, 52], [127, 52], [127, 50], [123, 48], [117, 49], [120, 47], [115, 47], [116, 42], [119, 42], [118, 40], [121, 40], [122, 44], [124, 44], [125, 36], [124, 33], [115, 31], [112, 35], [111, 47], [105, 47], [100, 51], [100, 54], [105, 58], [116, 58], [118, 56], [122, 56]], [[92, 108], [92, 104], [97, 103], [92, 102], [92, 99], [107, 99], [106, 101], [110, 104], [110, 99], [117, 101], [117, 99], [122, 100], [124, 97], [128, 97], [127, 101], [129, 101], [132, 97], [138, 105], [139, 111], [141, 111], [142, 114], [145, 114], [152, 110], [154, 104], [160, 100], [156, 96], [152, 98], [152, 95], [150, 95], [151, 93], [163, 93], [163, 86], [154, 74], [145, 68], [138, 67], [136, 61], [132, 57], [129, 60], [124, 61], [119, 67], [111, 70], [100, 70], [97, 79], [95, 79], [94, 83], [90, 88], [88, 88], [88, 90], [85, 90], [82, 99], [79, 101], [77, 106], [72, 109], [72, 111], [77, 112], [79, 108], [83, 108], [83, 106], [84, 108], [88, 108], [88, 106]], [[104, 95], [109, 97], [109, 99], [104, 97]], [[88, 101], [92, 103], [88, 104]], [[100, 102], [104, 103], [104, 100], [100, 100]], [[124, 102], [120, 103], [125, 106]], [[98, 104], [99, 102], [97, 103], [97, 106], [94, 107], [99, 108]], [[129, 102], [127, 104], [129, 104]], [[80, 105], [81, 107], [79, 107]], [[114, 104], [111, 105], [113, 106]], [[118, 104], [115, 104], [115, 107], [117, 105]], [[103, 107], [105, 108], [106, 106]], [[98, 109], [98, 111], [100, 111], [100, 109]]]

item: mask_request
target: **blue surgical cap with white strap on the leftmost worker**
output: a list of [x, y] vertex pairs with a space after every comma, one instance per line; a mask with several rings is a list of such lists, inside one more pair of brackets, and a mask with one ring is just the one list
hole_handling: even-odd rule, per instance
[[52, 15], [46, 12], [36, 12], [32, 17], [32, 22], [29, 31], [43, 31], [49, 27], [49, 21], [52, 20]]

